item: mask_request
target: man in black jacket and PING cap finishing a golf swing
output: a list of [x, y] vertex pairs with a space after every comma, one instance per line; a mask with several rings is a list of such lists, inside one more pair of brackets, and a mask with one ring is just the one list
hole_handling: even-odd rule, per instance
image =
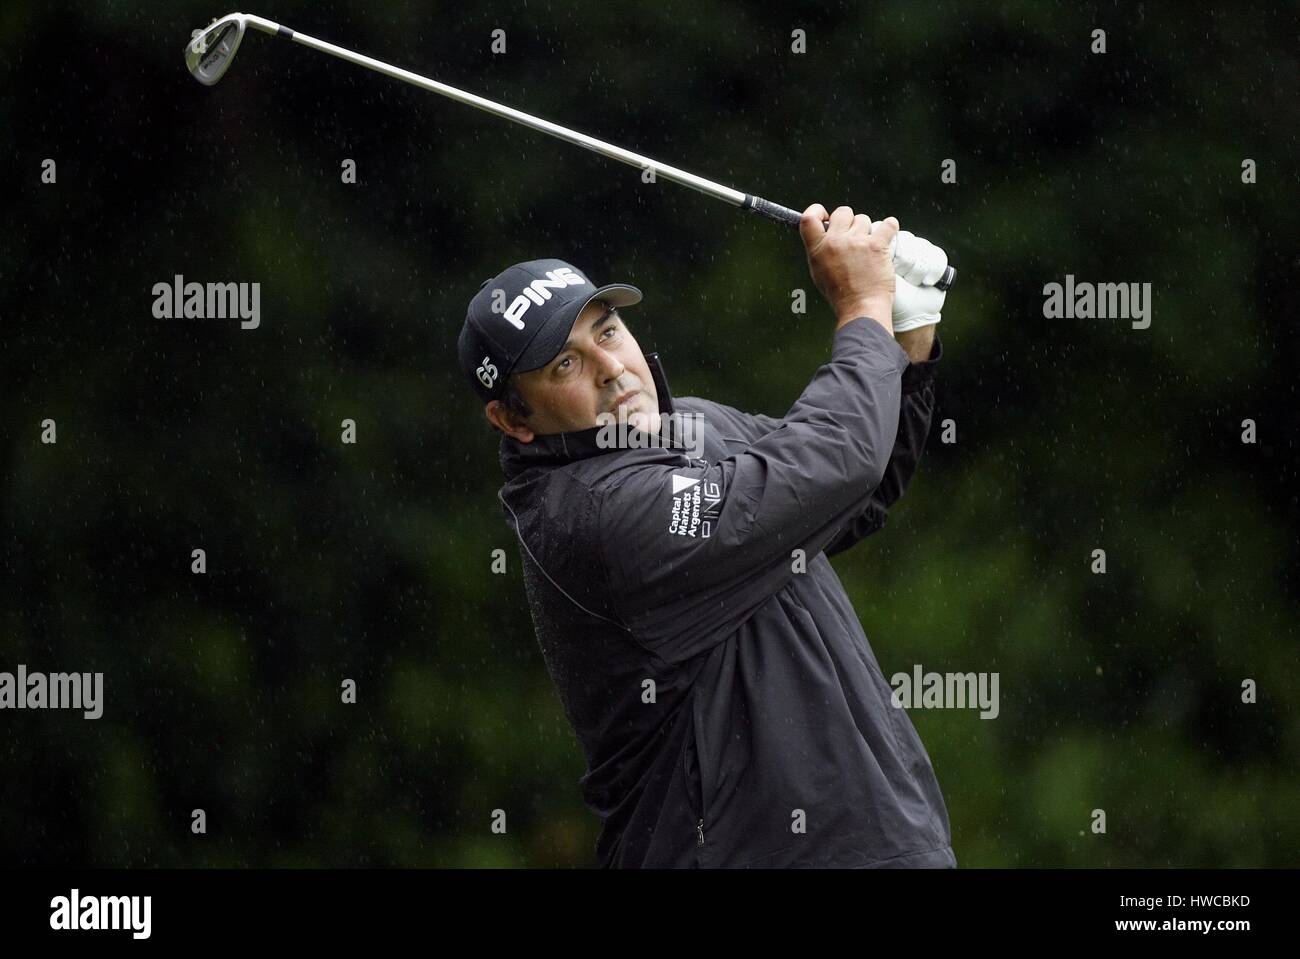
[[602, 867], [957, 864], [828, 559], [916, 468], [942, 299], [918, 308], [900, 278], [896, 303], [893, 217], [812, 204], [800, 231], [836, 324], [780, 418], [673, 398], [623, 313], [641, 291], [560, 260], [486, 281], [460, 333]]

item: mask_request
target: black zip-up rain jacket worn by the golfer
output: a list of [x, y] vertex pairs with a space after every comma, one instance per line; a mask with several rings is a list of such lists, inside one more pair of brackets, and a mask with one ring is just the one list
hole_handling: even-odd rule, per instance
[[502, 438], [599, 865], [956, 865], [930, 756], [828, 560], [907, 486], [941, 353], [909, 363], [854, 320], [780, 420], [673, 399], [650, 353], [660, 411], [703, 424], [697, 459], [602, 448], [601, 428]]

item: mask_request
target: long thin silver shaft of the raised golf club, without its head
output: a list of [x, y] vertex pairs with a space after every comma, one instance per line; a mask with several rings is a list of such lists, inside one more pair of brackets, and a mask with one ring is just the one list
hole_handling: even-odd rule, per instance
[[[391, 64], [385, 64], [382, 60], [376, 60], [373, 57], [364, 56], [361, 53], [355, 53], [354, 51], [346, 49], [343, 47], [337, 47], [333, 43], [326, 43], [325, 40], [317, 40], [315, 36], [308, 36], [307, 34], [300, 34], [295, 30], [290, 30], [286, 26], [281, 26], [273, 21], [265, 19], [263, 17], [255, 17], [252, 14], [247, 16], [247, 23], [255, 30], [260, 30], [264, 34], [273, 34], [276, 36], [283, 36], [292, 40], [294, 43], [300, 43], [304, 47], [320, 51], [321, 53], [329, 53], [339, 60], [346, 60], [350, 64], [356, 64], [358, 66], [364, 66], [376, 73], [382, 73], [385, 77], [391, 77], [393, 79], [403, 81], [412, 86], [420, 87], [421, 90], [429, 90], [434, 94], [441, 94], [442, 96], [450, 97], [468, 107], [474, 107], [477, 109], [493, 113], [504, 120], [521, 123], [524, 126], [532, 127], [533, 130], [540, 130], [541, 133], [550, 134], [562, 140], [572, 143], [578, 147], [590, 149], [601, 156], [606, 156], [611, 160], [619, 160], [629, 166], [636, 166], [641, 170], [653, 170], [655, 179], [663, 177], [673, 183], [680, 183], [681, 186], [697, 190], [706, 196], [712, 196], [719, 200], [725, 200], [733, 207], [740, 207], [741, 209], [753, 211], [768, 220], [775, 220], [779, 224], [785, 224], [786, 226], [793, 226], [798, 229], [800, 225], [800, 212], [783, 207], [779, 203], [772, 203], [771, 200], [764, 200], [762, 196], [754, 196], [753, 194], [745, 194], [740, 190], [733, 190], [731, 187], [723, 186], [722, 183], [715, 183], [711, 179], [705, 179], [703, 177], [697, 177], [693, 173], [686, 173], [676, 166], [670, 166], [668, 164], [662, 164], [658, 160], [651, 160], [641, 153], [634, 153], [630, 149], [624, 149], [623, 147], [615, 147], [604, 140], [598, 140], [594, 136], [588, 136], [586, 134], [577, 133], [576, 130], [569, 130], [560, 126], [559, 123], [552, 123], [549, 120], [542, 120], [541, 117], [534, 117], [523, 110], [516, 110], [512, 107], [504, 107], [499, 103], [494, 103], [482, 96], [476, 96], [474, 94], [467, 94], [463, 90], [456, 90], [446, 83], [439, 83], [438, 81], [429, 79], [428, 77], [421, 77], [417, 73], [411, 73], [410, 70], [403, 70], [399, 66], [393, 66]], [[827, 225], [828, 226], [828, 225]], [[940, 290], [946, 290], [952, 286], [956, 270], [950, 266], [944, 270], [942, 277], [935, 282], [935, 286]]]

